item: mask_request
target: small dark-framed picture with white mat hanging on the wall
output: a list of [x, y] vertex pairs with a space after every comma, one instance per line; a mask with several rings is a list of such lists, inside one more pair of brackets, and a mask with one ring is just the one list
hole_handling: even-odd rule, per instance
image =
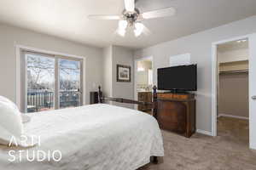
[[131, 66], [116, 65], [117, 82], [131, 82]]

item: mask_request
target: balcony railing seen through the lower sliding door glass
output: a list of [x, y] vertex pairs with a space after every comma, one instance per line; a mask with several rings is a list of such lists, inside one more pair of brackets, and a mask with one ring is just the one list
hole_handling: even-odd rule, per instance
[[[61, 90], [60, 108], [80, 104], [79, 90]], [[31, 90], [27, 93], [27, 112], [47, 111], [55, 108], [55, 94], [48, 90]]]

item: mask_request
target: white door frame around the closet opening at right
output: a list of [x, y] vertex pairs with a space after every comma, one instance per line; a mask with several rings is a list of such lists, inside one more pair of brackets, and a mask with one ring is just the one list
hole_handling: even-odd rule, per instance
[[[241, 39], [248, 39], [248, 42], [250, 42], [250, 35], [241, 36], [241, 37], [233, 37], [229, 39], [225, 39], [218, 42], [212, 42], [212, 136], [217, 136], [217, 106], [218, 106], [218, 54], [217, 54], [217, 47], [220, 44], [226, 43], [226, 42], [233, 42], [238, 41]], [[249, 47], [250, 48], [250, 47]], [[248, 57], [248, 62], [250, 63], [250, 56]], [[249, 94], [250, 98], [250, 94]], [[250, 100], [249, 100], [250, 101]], [[249, 120], [250, 120], [250, 114], [249, 114]], [[249, 123], [249, 130], [251, 130], [251, 123]], [[251, 137], [249, 139], [250, 146], [251, 146]]]

